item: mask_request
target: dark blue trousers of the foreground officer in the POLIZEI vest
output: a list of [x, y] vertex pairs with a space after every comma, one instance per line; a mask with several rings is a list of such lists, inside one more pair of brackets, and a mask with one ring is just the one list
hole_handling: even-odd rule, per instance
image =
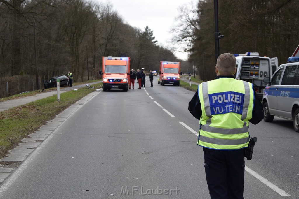
[[224, 151], [203, 148], [203, 151], [211, 199], [243, 199], [244, 149]]

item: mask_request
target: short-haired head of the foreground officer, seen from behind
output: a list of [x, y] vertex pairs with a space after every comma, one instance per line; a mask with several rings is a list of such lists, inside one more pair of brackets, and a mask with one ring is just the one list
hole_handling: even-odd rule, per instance
[[236, 57], [231, 53], [223, 53], [217, 58], [216, 66], [220, 75], [232, 75], [236, 68]]

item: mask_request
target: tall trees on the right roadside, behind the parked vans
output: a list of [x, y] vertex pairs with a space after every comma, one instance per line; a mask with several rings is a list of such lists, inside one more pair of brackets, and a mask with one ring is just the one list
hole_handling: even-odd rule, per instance
[[[258, 52], [287, 63], [299, 44], [298, 0], [218, 1], [221, 53]], [[215, 78], [214, 1], [196, 1], [179, 8], [173, 41], [189, 52], [190, 63], [204, 81]]]

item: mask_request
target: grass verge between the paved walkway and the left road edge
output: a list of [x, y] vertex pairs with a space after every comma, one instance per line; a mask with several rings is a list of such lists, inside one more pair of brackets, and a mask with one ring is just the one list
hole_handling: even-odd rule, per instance
[[57, 95], [53, 95], [0, 112], [0, 158], [27, 135], [102, 85], [99, 83], [92, 85], [94, 88], [83, 87], [61, 93], [60, 101], [57, 101]]

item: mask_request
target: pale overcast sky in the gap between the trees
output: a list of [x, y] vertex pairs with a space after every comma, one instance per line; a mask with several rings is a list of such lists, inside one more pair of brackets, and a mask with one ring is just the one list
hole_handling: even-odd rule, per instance
[[[170, 27], [179, 15], [178, 8], [191, 0], [98, 0], [113, 4], [125, 23], [141, 28], [148, 26], [158, 41], [159, 46], [167, 47], [172, 38]], [[187, 53], [175, 53], [178, 58], [187, 59]]]

